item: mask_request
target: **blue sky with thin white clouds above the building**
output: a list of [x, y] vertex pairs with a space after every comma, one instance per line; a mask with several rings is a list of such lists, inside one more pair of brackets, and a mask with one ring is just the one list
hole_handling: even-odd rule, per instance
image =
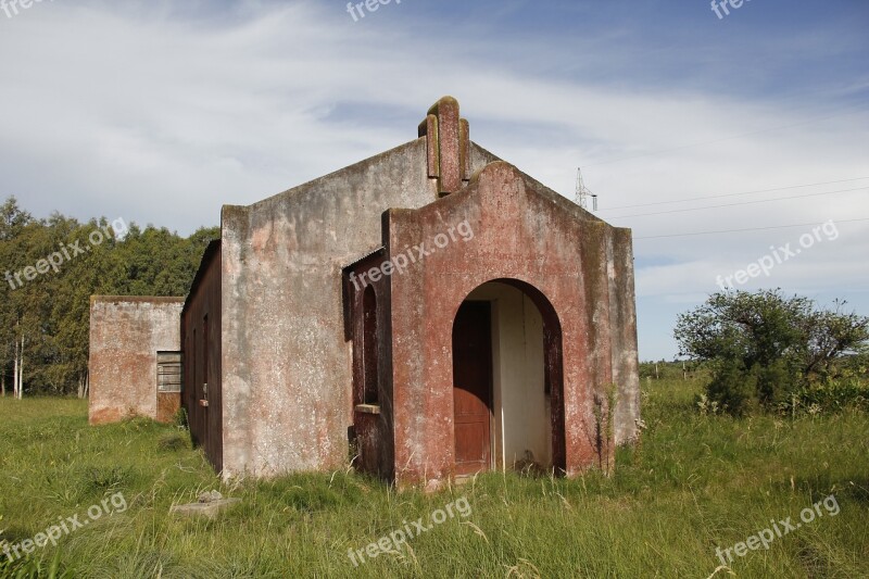
[[[224, 203], [413, 139], [453, 95], [475, 141], [568, 198], [582, 166], [599, 215], [633, 229], [641, 358], [676, 354], [676, 316], [718, 276], [798, 248], [830, 219], [834, 239], [819, 231], [739, 287], [846, 298], [869, 314], [869, 2], [729, 11], [719, 18], [705, 0], [393, 0], [357, 22], [345, 1], [0, 11], [0, 194], [38, 216], [187, 235], [217, 224]], [[729, 206], [693, 211], [710, 205]], [[798, 226], [770, 228], [786, 225]]]

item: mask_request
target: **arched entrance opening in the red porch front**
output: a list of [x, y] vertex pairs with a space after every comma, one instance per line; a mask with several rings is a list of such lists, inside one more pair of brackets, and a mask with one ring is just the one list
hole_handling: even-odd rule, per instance
[[533, 286], [496, 279], [453, 323], [455, 475], [564, 469], [562, 330]]

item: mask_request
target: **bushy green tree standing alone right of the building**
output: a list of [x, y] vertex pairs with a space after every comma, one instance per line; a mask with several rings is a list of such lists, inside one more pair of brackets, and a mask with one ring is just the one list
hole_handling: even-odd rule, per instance
[[788, 401], [865, 352], [869, 318], [844, 313], [845, 303], [819, 310], [780, 290], [715, 293], [681, 314], [673, 333], [681, 355], [711, 364], [708, 397], [740, 415]]

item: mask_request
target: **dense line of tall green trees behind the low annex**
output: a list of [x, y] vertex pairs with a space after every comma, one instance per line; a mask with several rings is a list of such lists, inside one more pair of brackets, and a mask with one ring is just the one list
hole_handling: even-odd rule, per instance
[[105, 217], [0, 207], [0, 394], [88, 391], [91, 295], [186, 295], [219, 227], [188, 238]]

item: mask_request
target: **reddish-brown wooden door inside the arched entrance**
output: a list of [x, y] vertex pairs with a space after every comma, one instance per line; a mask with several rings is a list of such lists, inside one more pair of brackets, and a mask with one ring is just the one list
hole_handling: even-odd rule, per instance
[[492, 330], [489, 302], [465, 302], [453, 324], [455, 474], [491, 466]]

